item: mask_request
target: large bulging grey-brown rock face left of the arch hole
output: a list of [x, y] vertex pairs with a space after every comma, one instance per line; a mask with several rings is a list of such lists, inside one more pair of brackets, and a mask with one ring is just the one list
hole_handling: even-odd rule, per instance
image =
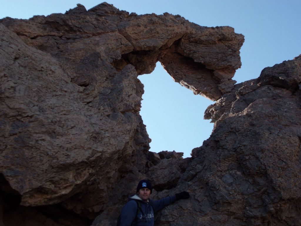
[[106, 164], [99, 172], [99, 159], [118, 158], [118, 150], [131, 155], [126, 147], [141, 123], [137, 74], [126, 66], [107, 81], [104, 95], [87, 97], [53, 57], [1, 29], [2, 173], [23, 205], [57, 203], [92, 177], [107, 177], [112, 169]]

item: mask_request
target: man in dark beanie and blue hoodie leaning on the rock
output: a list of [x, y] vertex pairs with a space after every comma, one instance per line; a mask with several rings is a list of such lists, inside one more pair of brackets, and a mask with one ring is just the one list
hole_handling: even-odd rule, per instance
[[175, 202], [178, 199], [188, 199], [188, 192], [168, 196], [157, 201], [151, 200], [152, 185], [148, 180], [141, 180], [137, 186], [137, 194], [129, 197], [129, 202], [123, 206], [117, 225], [120, 226], [154, 226], [154, 213]]

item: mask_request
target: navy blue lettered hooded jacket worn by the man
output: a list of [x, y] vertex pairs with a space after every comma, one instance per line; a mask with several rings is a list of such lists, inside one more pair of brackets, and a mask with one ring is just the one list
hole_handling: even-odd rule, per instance
[[[139, 211], [136, 218], [138, 205], [135, 200], [141, 203], [141, 209], [144, 213], [144, 216], [141, 211]], [[154, 209], [152, 208], [150, 202]], [[120, 226], [154, 226], [154, 213], [163, 209], [165, 206], [172, 204], [173, 202], [175, 202], [175, 196], [169, 196], [157, 201], [149, 199], [149, 202], [144, 202], [138, 197], [138, 195], [129, 197], [129, 202], [127, 202], [121, 210]]]

